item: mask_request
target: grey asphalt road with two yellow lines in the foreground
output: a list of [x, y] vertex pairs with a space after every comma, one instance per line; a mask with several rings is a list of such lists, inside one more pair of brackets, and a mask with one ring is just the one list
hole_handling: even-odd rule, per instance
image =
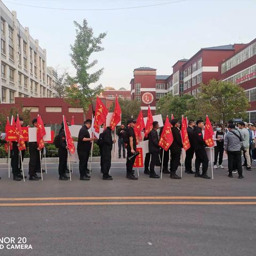
[[213, 180], [142, 171], [127, 180], [125, 164], [112, 164], [114, 180], [103, 181], [95, 163], [91, 180], [80, 181], [74, 164], [72, 181], [59, 181], [49, 164], [43, 181], [17, 182], [0, 165], [0, 241], [26, 237], [33, 247], [0, 255], [256, 254], [256, 167], [241, 180], [227, 169], [214, 170]]

